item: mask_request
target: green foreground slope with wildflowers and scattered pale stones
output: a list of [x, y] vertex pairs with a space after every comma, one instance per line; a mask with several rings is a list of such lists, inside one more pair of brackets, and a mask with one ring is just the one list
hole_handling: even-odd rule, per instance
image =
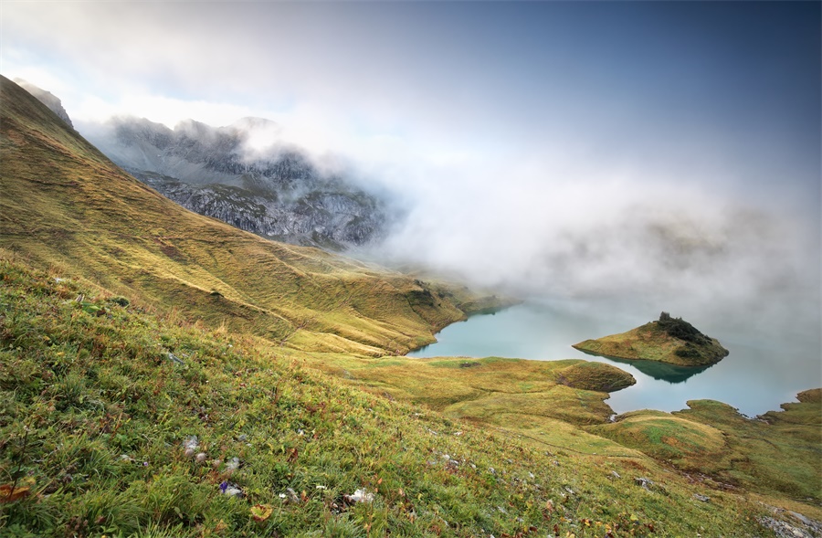
[[[7, 258], [0, 281], [0, 491], [18, 497], [0, 498], [4, 536], [766, 534], [763, 505], [636, 452], [391, 402], [304, 368], [303, 352]], [[184, 454], [189, 436], [204, 462]], [[358, 489], [374, 501], [345, 500]]]

